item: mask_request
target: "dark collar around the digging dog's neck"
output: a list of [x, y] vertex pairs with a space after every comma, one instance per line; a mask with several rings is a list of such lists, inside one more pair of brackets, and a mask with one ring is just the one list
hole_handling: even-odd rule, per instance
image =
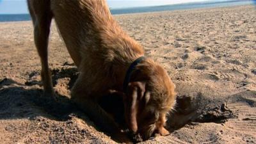
[[124, 79], [124, 84], [123, 84], [123, 90], [126, 92], [128, 83], [130, 82], [131, 75], [132, 75], [132, 70], [138, 65], [142, 60], [144, 60], [145, 57], [141, 56], [140, 58], [137, 58], [135, 61], [132, 62], [130, 67], [128, 68], [126, 74], [125, 74], [125, 79]]

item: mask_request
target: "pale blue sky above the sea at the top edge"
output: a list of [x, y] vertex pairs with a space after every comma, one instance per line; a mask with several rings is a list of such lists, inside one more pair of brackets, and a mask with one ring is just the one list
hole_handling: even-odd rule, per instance
[[[134, 6], [156, 6], [164, 4], [189, 3], [205, 0], [107, 0], [111, 8]], [[28, 13], [26, 0], [0, 0], [0, 14]]]

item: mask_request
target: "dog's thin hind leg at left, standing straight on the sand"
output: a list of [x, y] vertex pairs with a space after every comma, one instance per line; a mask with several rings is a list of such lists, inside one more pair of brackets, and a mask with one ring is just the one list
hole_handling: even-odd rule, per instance
[[33, 20], [35, 45], [42, 65], [41, 77], [44, 94], [54, 96], [47, 52], [52, 20], [50, 1], [28, 0], [28, 6]]

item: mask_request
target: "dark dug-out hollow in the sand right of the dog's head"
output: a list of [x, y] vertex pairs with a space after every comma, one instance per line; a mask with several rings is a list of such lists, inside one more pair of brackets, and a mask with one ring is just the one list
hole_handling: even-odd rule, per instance
[[192, 99], [186, 95], [177, 97], [175, 110], [168, 118], [167, 127], [170, 131], [180, 129], [191, 122], [206, 123], [214, 122], [224, 123], [228, 118], [236, 118], [226, 103], [213, 104], [198, 93], [198, 97]]

